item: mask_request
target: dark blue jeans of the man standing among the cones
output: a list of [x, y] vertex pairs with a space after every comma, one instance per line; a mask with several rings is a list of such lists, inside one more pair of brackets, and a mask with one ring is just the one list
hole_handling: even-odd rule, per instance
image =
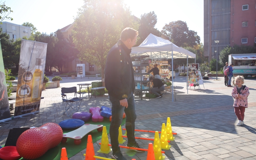
[[112, 145], [113, 153], [120, 150], [118, 143], [118, 128], [123, 120], [123, 112], [126, 113], [126, 131], [129, 144], [135, 143], [134, 129], [135, 119], [137, 118], [135, 112], [135, 102], [133, 93], [127, 97], [128, 107], [120, 105], [118, 98], [109, 96], [110, 102], [112, 103], [112, 120], [110, 123], [110, 141]]

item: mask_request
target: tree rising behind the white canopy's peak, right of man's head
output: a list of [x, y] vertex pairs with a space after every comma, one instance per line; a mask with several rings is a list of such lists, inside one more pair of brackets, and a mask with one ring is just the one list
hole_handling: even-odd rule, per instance
[[154, 34], [155, 36], [161, 37], [161, 32], [154, 28], [156, 22], [157, 17], [154, 11], [140, 16], [140, 26], [138, 30], [139, 38], [137, 40], [137, 46], [139, 46], [150, 33]]

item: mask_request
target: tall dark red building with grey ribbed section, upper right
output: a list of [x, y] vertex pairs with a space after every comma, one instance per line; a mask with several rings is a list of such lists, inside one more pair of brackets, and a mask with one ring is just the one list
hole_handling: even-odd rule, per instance
[[255, 43], [256, 0], [204, 0], [204, 57], [219, 60], [226, 46]]

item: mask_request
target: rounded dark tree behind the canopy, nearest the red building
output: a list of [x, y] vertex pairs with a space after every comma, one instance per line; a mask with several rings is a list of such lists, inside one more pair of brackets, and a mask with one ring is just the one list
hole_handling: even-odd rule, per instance
[[189, 30], [187, 23], [180, 20], [165, 24], [161, 32], [170, 37], [170, 41], [179, 47], [193, 47], [200, 44], [197, 32]]

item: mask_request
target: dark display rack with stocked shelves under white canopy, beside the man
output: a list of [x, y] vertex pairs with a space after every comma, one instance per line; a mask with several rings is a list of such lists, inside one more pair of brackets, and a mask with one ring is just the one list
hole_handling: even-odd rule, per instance
[[[143, 92], [149, 92], [149, 99], [150, 99], [150, 87], [149, 83], [150, 81], [147, 79], [144, 79], [144, 75], [148, 75], [148, 70], [149, 70], [149, 56], [146, 55], [139, 55], [139, 56], [134, 56], [131, 57], [133, 61], [133, 67], [135, 68], [134, 71], [134, 82], [135, 82], [135, 91], [140, 91], [139, 96], [141, 97], [142, 100], [142, 94]], [[142, 67], [146, 67], [146, 69], [142, 69]], [[138, 82], [139, 82], [139, 87], [138, 88]], [[144, 84], [148, 85], [148, 88], [145, 89]]]

